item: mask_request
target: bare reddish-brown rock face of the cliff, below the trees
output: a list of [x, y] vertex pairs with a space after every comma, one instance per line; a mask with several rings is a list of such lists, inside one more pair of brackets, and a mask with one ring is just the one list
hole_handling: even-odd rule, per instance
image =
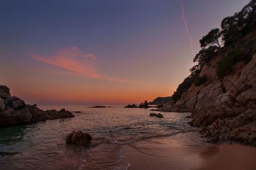
[[201, 127], [212, 142], [256, 146], [256, 54], [247, 64], [237, 63], [235, 71], [221, 81], [216, 76], [217, 61], [218, 57], [200, 73], [209, 77], [207, 84], [191, 86], [175, 104], [160, 110], [192, 112], [191, 125]]

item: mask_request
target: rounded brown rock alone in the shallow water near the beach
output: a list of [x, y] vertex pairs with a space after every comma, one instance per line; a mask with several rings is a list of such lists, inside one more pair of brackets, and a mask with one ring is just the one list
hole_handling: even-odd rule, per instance
[[79, 146], [91, 146], [92, 136], [82, 131], [73, 131], [66, 137], [67, 144], [76, 144]]

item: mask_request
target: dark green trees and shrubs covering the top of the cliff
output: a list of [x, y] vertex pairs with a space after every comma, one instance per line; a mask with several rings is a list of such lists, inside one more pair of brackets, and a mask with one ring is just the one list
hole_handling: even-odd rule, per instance
[[[221, 30], [218, 28], [212, 29], [202, 37], [200, 40], [202, 49], [193, 59], [197, 64], [190, 69], [191, 74], [184, 79], [173, 93], [172, 100], [175, 102], [179, 100], [182, 94], [188, 91], [193, 84], [200, 86], [207, 82], [207, 76], [201, 75], [202, 77], [200, 77], [200, 72], [203, 66], [218, 54], [222, 56], [216, 68], [219, 79], [223, 79], [231, 73], [237, 62], [244, 60], [245, 64], [248, 63], [252, 59], [252, 54], [256, 52], [255, 38], [247, 41], [247, 43], [241, 42], [241, 39], [248, 33], [251, 33], [251, 36], [256, 33], [256, 0], [250, 1], [240, 12], [223, 19]], [[224, 48], [221, 48], [220, 38], [222, 38]], [[240, 43], [237, 43], [239, 40]], [[228, 46], [233, 50], [226, 50]], [[219, 50], [220, 48], [223, 50]]]

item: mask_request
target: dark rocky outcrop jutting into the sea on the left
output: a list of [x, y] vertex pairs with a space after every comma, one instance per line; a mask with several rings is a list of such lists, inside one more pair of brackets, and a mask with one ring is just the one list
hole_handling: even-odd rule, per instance
[[65, 109], [42, 111], [36, 105], [27, 105], [24, 100], [12, 96], [7, 86], [0, 86], [0, 128], [70, 117], [74, 115]]

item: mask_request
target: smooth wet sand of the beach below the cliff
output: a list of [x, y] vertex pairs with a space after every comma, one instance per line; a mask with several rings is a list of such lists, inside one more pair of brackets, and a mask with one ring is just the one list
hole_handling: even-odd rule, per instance
[[206, 144], [187, 145], [179, 137], [163, 137], [122, 146], [129, 169], [256, 169], [256, 148]]

